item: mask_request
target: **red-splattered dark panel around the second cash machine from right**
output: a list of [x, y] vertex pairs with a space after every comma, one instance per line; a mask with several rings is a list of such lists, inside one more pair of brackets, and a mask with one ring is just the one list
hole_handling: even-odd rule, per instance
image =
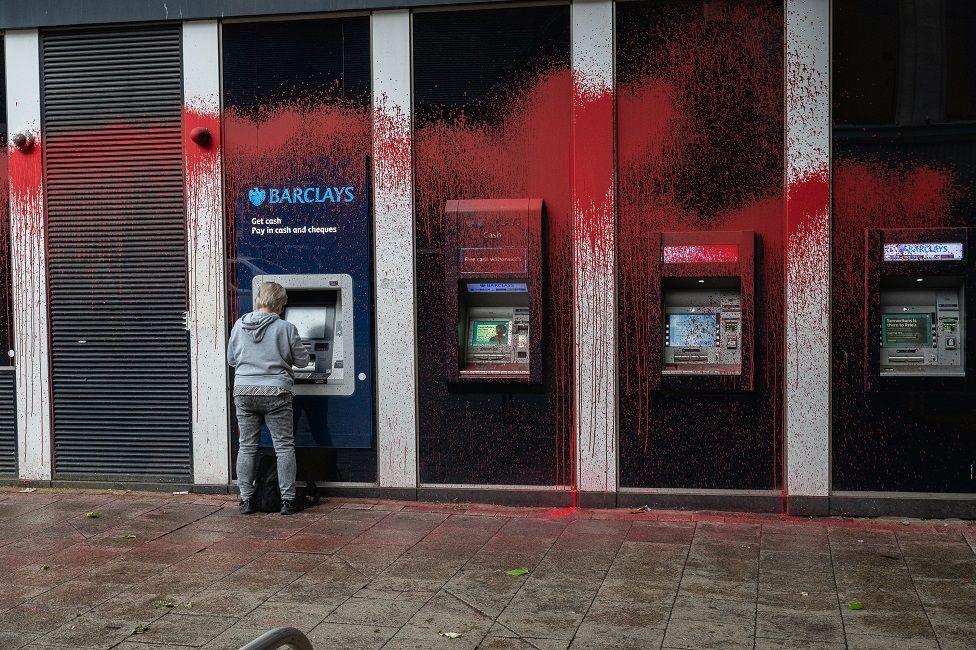
[[[621, 484], [780, 484], [783, 338], [782, 6], [625, 3], [617, 13]], [[751, 394], [652, 389], [650, 235], [753, 230]], [[660, 253], [658, 253], [660, 255]]]

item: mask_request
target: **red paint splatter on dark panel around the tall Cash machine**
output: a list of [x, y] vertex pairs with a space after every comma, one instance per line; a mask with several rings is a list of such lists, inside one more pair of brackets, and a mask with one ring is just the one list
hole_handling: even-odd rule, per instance
[[[548, 282], [542, 293], [548, 300], [545, 313], [551, 328], [543, 352], [551, 365], [544, 378], [546, 397], [541, 412], [526, 410], [527, 404], [538, 401], [522, 403], [518, 396], [506, 398], [502, 412], [451, 407], [466, 402], [447, 392], [444, 355], [439, 351], [443, 337], [438, 336], [435, 344], [426, 342], [421, 334], [419, 426], [421, 480], [425, 482], [453, 476], [457, 468], [468, 470], [463, 482], [477, 480], [475, 474], [510, 474], [513, 468], [520, 468], [516, 471], [519, 481], [573, 484], [575, 466], [569, 453], [574, 444], [571, 107], [571, 74], [568, 69], [557, 69], [520, 84], [518, 94], [499, 98], [496, 112], [502, 119], [497, 122], [476, 121], [458, 112], [423, 120], [415, 130], [420, 286], [426, 283], [438, 290], [443, 286], [443, 272], [438, 268], [443, 269], [445, 201], [542, 198], [548, 256]], [[418, 290], [421, 310], [430, 299]], [[443, 307], [428, 306], [430, 318], [440, 322]], [[495, 434], [491, 442], [483, 444], [486, 423], [494, 423]], [[469, 430], [477, 430], [477, 437], [457, 433]], [[543, 443], [541, 437], [552, 442]], [[478, 444], [472, 445], [475, 439]], [[543, 446], [555, 449], [554, 466], [548, 471], [528, 460]]]

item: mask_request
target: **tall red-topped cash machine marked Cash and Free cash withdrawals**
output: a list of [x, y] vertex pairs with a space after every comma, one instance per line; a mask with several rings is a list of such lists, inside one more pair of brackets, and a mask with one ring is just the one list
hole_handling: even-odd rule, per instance
[[448, 382], [542, 383], [541, 199], [448, 201]]

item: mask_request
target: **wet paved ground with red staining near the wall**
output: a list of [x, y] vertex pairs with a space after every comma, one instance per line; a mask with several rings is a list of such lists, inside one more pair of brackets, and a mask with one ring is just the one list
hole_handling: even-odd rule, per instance
[[350, 500], [242, 517], [227, 497], [11, 490], [0, 648], [237, 648], [279, 625], [316, 648], [976, 648], [974, 547], [963, 522]]

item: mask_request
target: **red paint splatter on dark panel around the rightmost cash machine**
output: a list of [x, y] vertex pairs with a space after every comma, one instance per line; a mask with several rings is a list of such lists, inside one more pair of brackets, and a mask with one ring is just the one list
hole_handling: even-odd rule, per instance
[[[964, 144], [953, 145], [955, 147]], [[958, 165], [958, 168], [955, 166]], [[832, 431], [836, 489], [965, 491], [972, 401], [962, 391], [865, 390], [865, 231], [972, 226], [966, 167], [903, 150], [841, 155], [833, 168]], [[897, 395], [894, 397], [893, 395]], [[891, 400], [897, 400], [897, 407]], [[931, 430], [938, 421], [938, 430]], [[958, 487], [957, 487], [958, 486]], [[962, 489], [959, 489], [962, 488]]]

